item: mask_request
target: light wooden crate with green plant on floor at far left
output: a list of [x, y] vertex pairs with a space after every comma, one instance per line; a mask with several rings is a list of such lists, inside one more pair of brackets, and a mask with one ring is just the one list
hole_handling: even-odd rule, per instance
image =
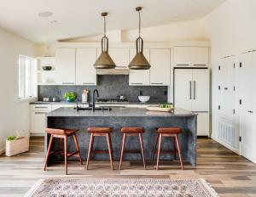
[[29, 136], [8, 136], [6, 138], [5, 155], [12, 156], [29, 150]]

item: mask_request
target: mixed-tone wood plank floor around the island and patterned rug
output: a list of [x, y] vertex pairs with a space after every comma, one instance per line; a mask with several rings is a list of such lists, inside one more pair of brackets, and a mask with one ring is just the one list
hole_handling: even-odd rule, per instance
[[[59, 164], [43, 169], [44, 138], [32, 138], [28, 153], [13, 157], [0, 156], [0, 196], [23, 196], [39, 178], [66, 177], [64, 167]], [[205, 178], [220, 196], [243, 197], [256, 196], [256, 166], [236, 155], [212, 139], [198, 140], [198, 162], [196, 169], [186, 165], [181, 171], [179, 166], [170, 162], [163, 163], [159, 171], [154, 164], [148, 163], [144, 171], [141, 163], [124, 162], [122, 171], [110, 170], [109, 162], [93, 161], [90, 170], [85, 171], [79, 162], [68, 163], [67, 177], [170, 177], [170, 178]], [[118, 169], [118, 162], [114, 163]]]

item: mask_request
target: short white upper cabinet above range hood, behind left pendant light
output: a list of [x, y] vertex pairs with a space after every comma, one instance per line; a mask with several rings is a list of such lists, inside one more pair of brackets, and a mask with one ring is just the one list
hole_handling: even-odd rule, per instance
[[[97, 57], [102, 53], [102, 48], [97, 48]], [[108, 53], [116, 65], [116, 69], [128, 69], [129, 48], [108, 48]]]

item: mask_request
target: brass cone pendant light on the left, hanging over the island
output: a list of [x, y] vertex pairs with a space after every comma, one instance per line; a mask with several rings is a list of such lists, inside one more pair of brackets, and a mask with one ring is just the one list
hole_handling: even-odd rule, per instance
[[96, 69], [114, 69], [115, 64], [113, 59], [108, 54], [108, 37], [106, 37], [106, 20], [105, 17], [108, 13], [102, 13], [104, 17], [104, 37], [102, 37], [102, 54], [98, 59], [96, 59], [96, 63], [94, 63], [94, 67]]

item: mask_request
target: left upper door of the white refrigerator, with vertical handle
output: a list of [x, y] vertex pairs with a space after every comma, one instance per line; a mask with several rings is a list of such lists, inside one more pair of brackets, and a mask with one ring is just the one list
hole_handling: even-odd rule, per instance
[[191, 110], [192, 100], [192, 70], [175, 69], [174, 103], [175, 107]]

